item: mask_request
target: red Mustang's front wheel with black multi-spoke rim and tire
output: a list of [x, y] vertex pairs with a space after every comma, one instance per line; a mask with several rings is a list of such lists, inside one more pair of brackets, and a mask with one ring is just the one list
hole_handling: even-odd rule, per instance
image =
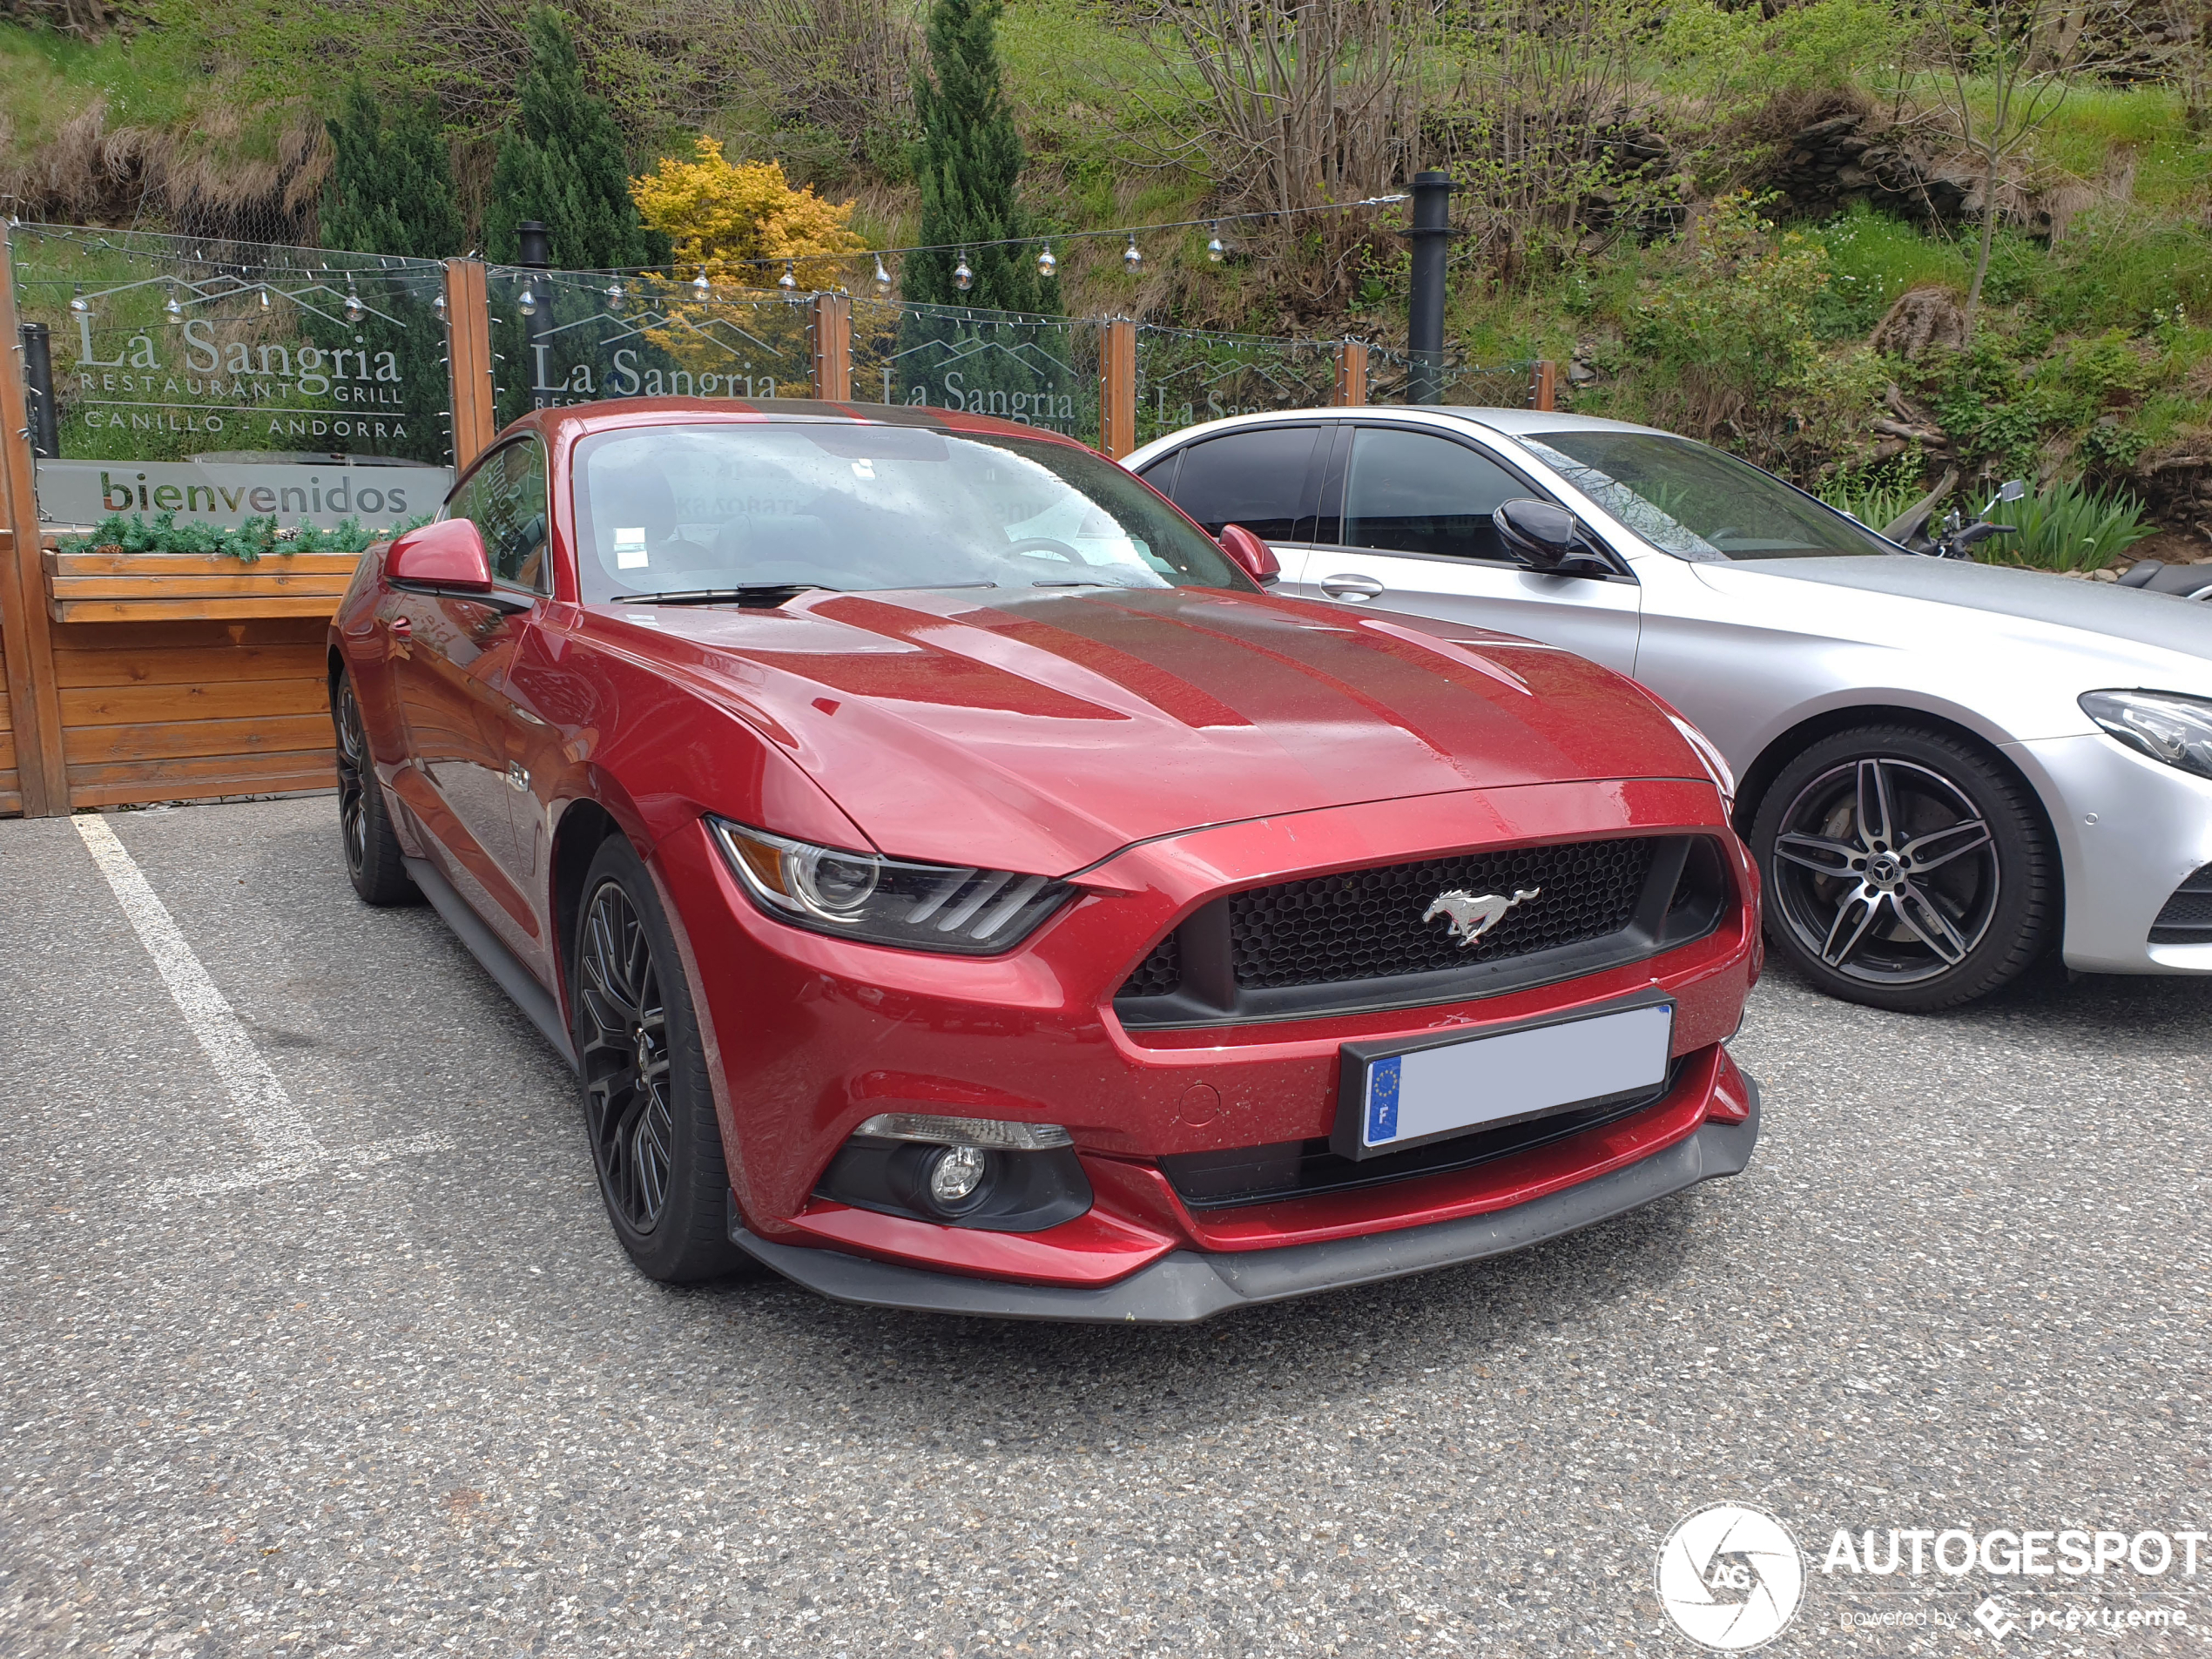
[[628, 836], [599, 843], [575, 914], [571, 1031], [606, 1219], [646, 1279], [743, 1272], [684, 960]]

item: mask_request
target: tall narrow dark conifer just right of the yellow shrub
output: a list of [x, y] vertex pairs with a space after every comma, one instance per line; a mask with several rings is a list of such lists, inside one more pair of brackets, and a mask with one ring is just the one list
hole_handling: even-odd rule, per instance
[[[1035, 312], [1057, 290], [1057, 281], [1037, 276], [1035, 248], [982, 246], [1029, 230], [1015, 201], [1026, 157], [1000, 80], [998, 13], [1000, 0], [933, 0], [929, 7], [929, 62], [914, 77], [914, 108], [922, 124], [916, 157], [920, 239], [951, 243], [951, 252], [909, 254], [900, 294], [927, 305]], [[975, 272], [967, 292], [953, 288], [962, 246]]]

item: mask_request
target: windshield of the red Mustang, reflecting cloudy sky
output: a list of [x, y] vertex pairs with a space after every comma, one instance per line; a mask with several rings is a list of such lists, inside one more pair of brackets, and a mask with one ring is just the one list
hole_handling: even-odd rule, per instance
[[1037, 438], [633, 427], [586, 438], [573, 471], [586, 604], [768, 586], [1252, 586], [1146, 484]]

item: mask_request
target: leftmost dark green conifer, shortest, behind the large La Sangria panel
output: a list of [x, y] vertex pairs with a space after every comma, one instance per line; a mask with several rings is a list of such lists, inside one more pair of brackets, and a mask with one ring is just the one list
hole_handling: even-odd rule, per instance
[[445, 259], [467, 234], [438, 106], [378, 102], [356, 75], [336, 119], [323, 122], [336, 159], [323, 186], [323, 246], [361, 254]]

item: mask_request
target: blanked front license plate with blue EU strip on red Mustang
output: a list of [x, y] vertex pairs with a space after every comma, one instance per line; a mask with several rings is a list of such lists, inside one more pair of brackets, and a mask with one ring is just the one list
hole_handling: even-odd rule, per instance
[[1674, 1004], [1644, 1002], [1416, 1042], [1347, 1042], [1336, 1133], [1340, 1157], [1378, 1157], [1475, 1128], [1608, 1106], [1666, 1082]]

